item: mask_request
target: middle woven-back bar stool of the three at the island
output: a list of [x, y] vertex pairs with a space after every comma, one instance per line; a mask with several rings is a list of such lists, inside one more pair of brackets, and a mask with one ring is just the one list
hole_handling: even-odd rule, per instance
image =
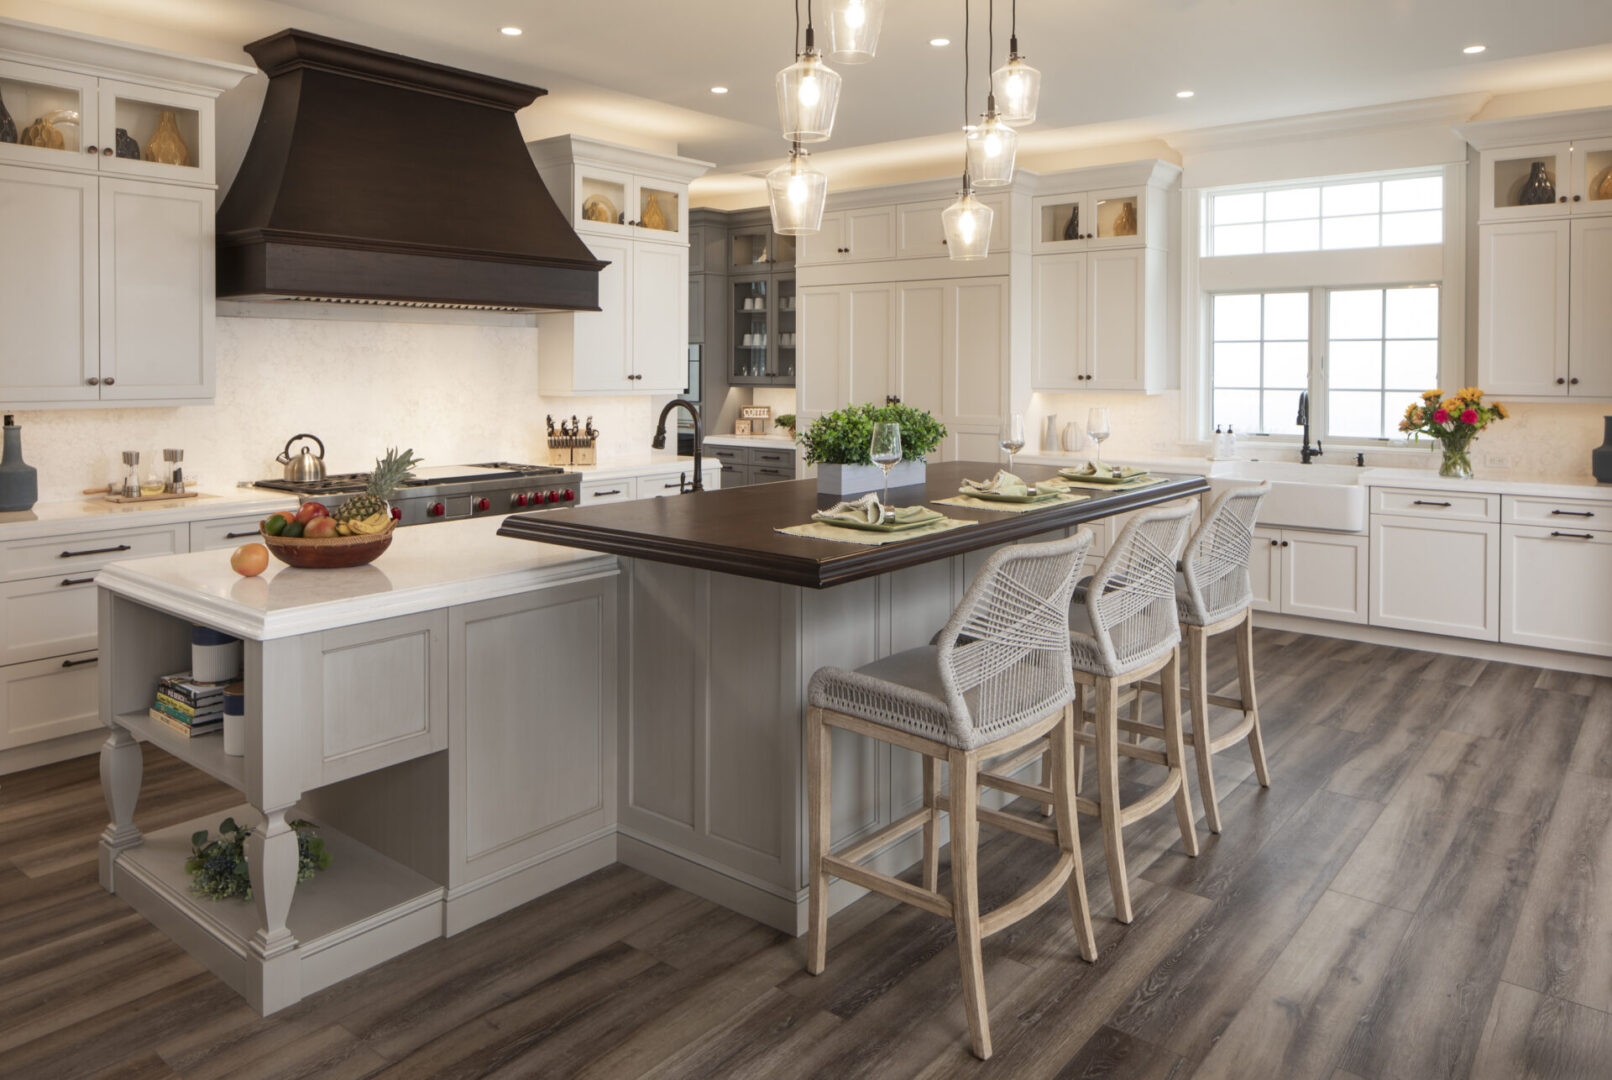
[[[1182, 846], [1186, 854], [1198, 854], [1191, 791], [1183, 769], [1182, 630], [1175, 601], [1175, 563], [1186, 542], [1191, 514], [1191, 506], [1174, 506], [1133, 517], [1069, 608], [1069, 642], [1075, 667], [1077, 774], [1086, 746], [1093, 746], [1098, 756], [1098, 801], [1077, 798], [1075, 806], [1103, 820], [1109, 890], [1114, 895], [1114, 917], [1120, 922], [1132, 919], [1125, 825], [1174, 801]], [[1120, 721], [1122, 692], [1151, 675], [1159, 675], [1162, 687], [1162, 727], [1136, 719]], [[1096, 696], [1090, 717], [1091, 732], [1086, 732], [1088, 692]], [[1122, 729], [1162, 738], [1164, 748], [1120, 741]], [[1120, 756], [1165, 769], [1164, 780], [1128, 806], [1122, 806], [1119, 798]]]

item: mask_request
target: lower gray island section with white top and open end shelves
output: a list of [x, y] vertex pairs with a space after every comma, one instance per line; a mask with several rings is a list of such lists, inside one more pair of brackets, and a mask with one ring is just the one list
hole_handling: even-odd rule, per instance
[[[617, 563], [493, 529], [408, 529], [345, 571], [243, 579], [205, 551], [97, 579], [102, 885], [264, 1014], [616, 859]], [[243, 640], [243, 756], [147, 716], [193, 625]], [[243, 803], [142, 833], [142, 741]], [[184, 869], [229, 814], [253, 830], [250, 903]], [[295, 819], [332, 854], [306, 882]]]

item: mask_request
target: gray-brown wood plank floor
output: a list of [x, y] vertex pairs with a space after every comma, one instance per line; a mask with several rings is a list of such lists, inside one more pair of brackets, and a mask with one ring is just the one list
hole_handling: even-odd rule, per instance
[[[0, 1077], [1612, 1077], [1612, 679], [1264, 630], [1256, 663], [1273, 787], [1219, 756], [1196, 859], [1133, 825], [1128, 927], [1085, 820], [1101, 956], [1061, 898], [987, 940], [990, 1062], [949, 924], [866, 898], [811, 977], [625, 867], [258, 1019], [100, 890], [82, 758], [0, 780]], [[237, 800], [145, 761], [145, 829]], [[985, 835], [990, 908], [1049, 851]]]

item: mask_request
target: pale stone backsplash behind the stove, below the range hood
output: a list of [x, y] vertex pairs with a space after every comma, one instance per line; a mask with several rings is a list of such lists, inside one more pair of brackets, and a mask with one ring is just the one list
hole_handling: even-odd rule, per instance
[[[202, 490], [280, 476], [285, 440], [324, 440], [330, 472], [371, 467], [387, 447], [429, 464], [543, 464], [543, 414], [593, 416], [600, 459], [648, 455], [648, 398], [542, 398], [534, 327], [482, 324], [218, 319], [218, 398], [163, 409], [6, 409], [24, 424], [42, 501], [77, 498], [142, 461], [182, 447]], [[158, 455], [160, 459], [160, 455]]]

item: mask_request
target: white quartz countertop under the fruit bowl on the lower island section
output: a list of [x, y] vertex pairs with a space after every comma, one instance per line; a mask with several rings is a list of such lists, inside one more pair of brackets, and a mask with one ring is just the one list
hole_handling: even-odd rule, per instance
[[306, 571], [269, 559], [258, 577], [227, 550], [113, 563], [95, 584], [256, 642], [434, 611], [616, 574], [616, 556], [500, 537], [500, 517], [398, 529], [369, 566]]

